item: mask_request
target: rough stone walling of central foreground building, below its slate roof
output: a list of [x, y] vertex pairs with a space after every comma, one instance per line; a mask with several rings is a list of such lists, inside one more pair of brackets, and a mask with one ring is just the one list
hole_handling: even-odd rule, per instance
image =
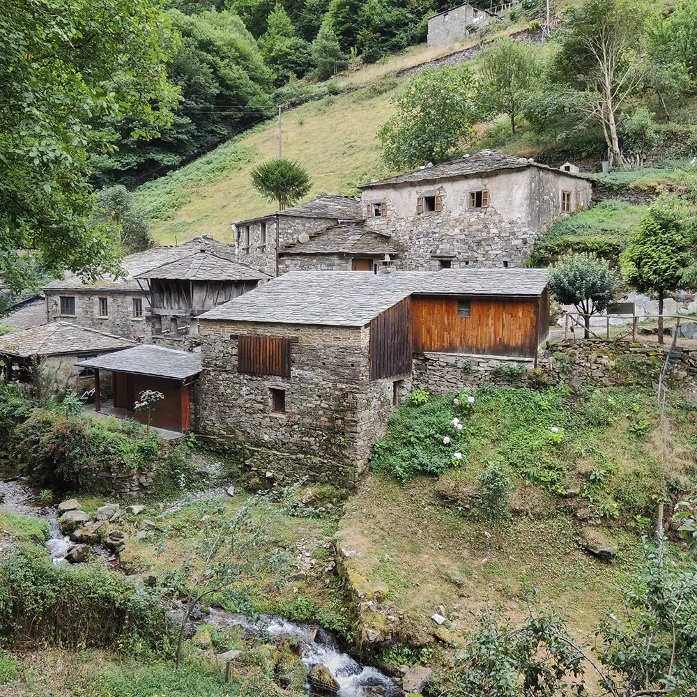
[[[199, 429], [229, 434], [247, 466], [267, 479], [355, 483], [395, 411], [394, 379], [369, 381], [369, 329], [200, 324]], [[291, 337], [291, 376], [239, 373], [231, 335], [240, 334]], [[403, 399], [410, 388], [409, 378], [397, 386]], [[285, 413], [273, 411], [272, 389], [285, 390]]]

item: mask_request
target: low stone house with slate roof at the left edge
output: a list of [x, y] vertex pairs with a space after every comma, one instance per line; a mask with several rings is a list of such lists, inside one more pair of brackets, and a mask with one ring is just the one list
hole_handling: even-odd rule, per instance
[[[86, 361], [133, 346], [133, 342], [68, 322], [53, 322], [0, 337], [0, 360], [8, 381], [31, 385], [38, 399], [74, 390], [78, 395], [95, 386]], [[112, 391], [111, 376], [103, 383]]]

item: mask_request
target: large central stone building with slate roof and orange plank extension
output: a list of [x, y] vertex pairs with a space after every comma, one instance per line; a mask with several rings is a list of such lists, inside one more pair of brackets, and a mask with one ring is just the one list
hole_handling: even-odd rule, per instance
[[262, 480], [351, 484], [434, 352], [533, 360], [549, 328], [546, 270], [386, 272], [286, 273], [201, 315], [199, 429]]

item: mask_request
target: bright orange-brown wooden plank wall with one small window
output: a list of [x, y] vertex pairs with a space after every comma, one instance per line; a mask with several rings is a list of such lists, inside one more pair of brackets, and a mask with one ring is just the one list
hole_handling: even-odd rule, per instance
[[[457, 316], [458, 300], [469, 300], [469, 317]], [[537, 297], [412, 296], [413, 351], [533, 358], [538, 304]]]

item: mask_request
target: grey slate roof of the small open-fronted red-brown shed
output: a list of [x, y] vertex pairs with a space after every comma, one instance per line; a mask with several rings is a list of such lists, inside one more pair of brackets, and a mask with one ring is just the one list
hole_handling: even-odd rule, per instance
[[118, 353], [100, 355], [80, 363], [80, 367], [98, 368], [158, 378], [185, 380], [201, 372], [201, 353], [175, 351], [174, 348], [139, 344]]

